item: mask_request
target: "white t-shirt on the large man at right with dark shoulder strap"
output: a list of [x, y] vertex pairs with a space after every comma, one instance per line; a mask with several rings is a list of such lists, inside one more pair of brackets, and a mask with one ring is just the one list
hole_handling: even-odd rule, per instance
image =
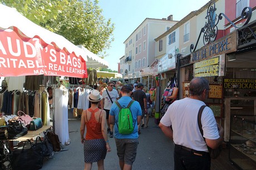
[[[195, 149], [196, 151], [208, 152], [198, 126], [198, 112], [203, 105], [205, 103], [202, 101], [184, 98], [175, 101], [169, 106], [160, 122], [164, 126], [172, 126], [175, 144]], [[219, 138], [216, 120], [213, 111], [209, 107], [204, 108], [201, 123], [205, 138]]]

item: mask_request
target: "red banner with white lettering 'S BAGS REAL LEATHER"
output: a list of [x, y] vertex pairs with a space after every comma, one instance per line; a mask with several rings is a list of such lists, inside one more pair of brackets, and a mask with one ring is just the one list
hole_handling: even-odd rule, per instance
[[86, 62], [52, 44], [42, 46], [39, 38], [24, 38], [12, 29], [0, 29], [1, 76], [87, 77]]

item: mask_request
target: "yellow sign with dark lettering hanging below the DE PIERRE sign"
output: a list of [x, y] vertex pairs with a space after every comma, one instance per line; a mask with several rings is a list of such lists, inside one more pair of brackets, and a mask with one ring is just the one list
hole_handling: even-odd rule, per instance
[[[211, 76], [224, 76], [225, 64], [222, 56], [206, 59], [201, 62], [194, 63], [194, 76], [195, 77], [211, 77]], [[220, 62], [221, 61], [221, 62]]]

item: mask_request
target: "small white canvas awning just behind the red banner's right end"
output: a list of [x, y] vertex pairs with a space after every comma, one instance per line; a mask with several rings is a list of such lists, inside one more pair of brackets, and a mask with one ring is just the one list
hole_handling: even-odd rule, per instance
[[98, 57], [96, 54], [90, 52], [87, 48], [79, 45], [77, 47], [80, 47], [81, 49], [83, 49], [83, 51], [85, 51], [86, 56], [87, 56], [87, 62], [86, 62], [86, 67], [87, 68], [108, 68], [109, 67], [109, 63], [107, 61], [105, 61], [104, 59]]

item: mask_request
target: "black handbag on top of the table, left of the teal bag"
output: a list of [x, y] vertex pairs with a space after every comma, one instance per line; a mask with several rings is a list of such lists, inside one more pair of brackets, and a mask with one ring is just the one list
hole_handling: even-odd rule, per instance
[[9, 123], [7, 126], [8, 139], [17, 139], [28, 133], [28, 128], [21, 121]]

